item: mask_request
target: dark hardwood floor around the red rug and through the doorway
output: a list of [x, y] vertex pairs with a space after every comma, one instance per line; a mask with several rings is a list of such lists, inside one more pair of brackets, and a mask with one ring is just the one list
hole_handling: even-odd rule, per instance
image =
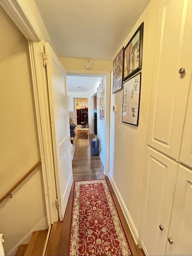
[[[125, 220], [125, 217], [120, 208], [119, 202], [113, 191], [108, 177], [104, 176], [104, 168], [101, 159], [98, 156], [91, 156], [91, 139], [94, 138], [93, 134], [89, 134], [88, 131], [77, 131], [76, 133], [76, 145], [75, 152], [72, 161], [73, 165], [73, 181], [79, 180], [97, 180], [105, 179], [109, 185], [113, 200], [115, 201], [119, 217], [122, 222], [122, 226], [125, 230], [129, 246], [133, 255], [145, 255], [143, 250], [135, 245], [132, 238], [130, 229]], [[52, 225], [48, 246], [45, 255], [67, 255], [69, 237], [70, 237], [70, 220], [72, 211], [73, 200], [73, 185], [71, 188], [67, 208], [65, 211], [63, 221], [58, 221]]]

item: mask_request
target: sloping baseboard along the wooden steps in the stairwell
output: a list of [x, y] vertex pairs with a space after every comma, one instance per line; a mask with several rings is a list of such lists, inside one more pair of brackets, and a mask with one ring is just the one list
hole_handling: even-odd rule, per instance
[[7, 255], [15, 255], [19, 245], [28, 244], [34, 231], [47, 229], [48, 227], [47, 216], [45, 216]]

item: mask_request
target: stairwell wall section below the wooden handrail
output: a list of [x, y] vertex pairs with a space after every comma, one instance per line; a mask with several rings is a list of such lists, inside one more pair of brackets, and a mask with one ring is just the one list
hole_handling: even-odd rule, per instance
[[38, 166], [0, 206], [0, 227], [5, 255], [15, 255], [18, 245], [29, 242], [32, 232], [47, 229], [43, 175]]

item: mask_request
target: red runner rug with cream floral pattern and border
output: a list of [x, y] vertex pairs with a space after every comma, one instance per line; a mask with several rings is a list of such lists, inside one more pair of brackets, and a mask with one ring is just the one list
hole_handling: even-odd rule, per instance
[[131, 255], [105, 179], [76, 181], [71, 219], [71, 255]]

